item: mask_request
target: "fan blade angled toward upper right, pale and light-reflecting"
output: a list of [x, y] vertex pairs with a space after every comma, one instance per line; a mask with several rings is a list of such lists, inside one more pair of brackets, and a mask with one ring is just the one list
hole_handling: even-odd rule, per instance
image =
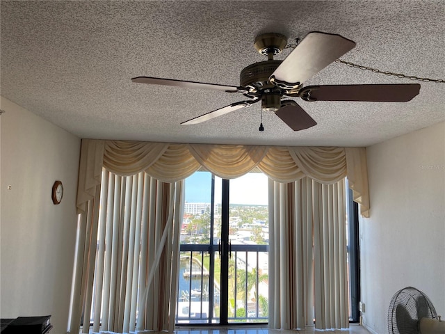
[[269, 80], [282, 88], [300, 86], [304, 81], [355, 47], [355, 42], [332, 33], [308, 33], [277, 67]]

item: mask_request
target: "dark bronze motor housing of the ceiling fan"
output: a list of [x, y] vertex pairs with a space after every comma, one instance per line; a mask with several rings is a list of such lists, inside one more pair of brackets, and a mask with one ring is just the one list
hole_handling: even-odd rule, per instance
[[269, 77], [281, 63], [282, 61], [261, 61], [244, 67], [239, 76], [240, 86], [254, 91], [274, 88], [269, 82]]

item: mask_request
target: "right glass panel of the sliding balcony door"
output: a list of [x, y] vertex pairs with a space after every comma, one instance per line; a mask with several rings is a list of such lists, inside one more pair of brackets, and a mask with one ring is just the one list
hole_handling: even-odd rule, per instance
[[229, 184], [228, 323], [268, 321], [267, 189], [261, 173]]

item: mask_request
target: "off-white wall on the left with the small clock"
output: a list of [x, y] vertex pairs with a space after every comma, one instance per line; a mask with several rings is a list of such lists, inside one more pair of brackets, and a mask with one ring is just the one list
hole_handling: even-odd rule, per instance
[[[81, 140], [3, 97], [0, 108], [0, 316], [52, 315], [51, 333], [66, 333]], [[60, 205], [51, 200], [56, 180]]]

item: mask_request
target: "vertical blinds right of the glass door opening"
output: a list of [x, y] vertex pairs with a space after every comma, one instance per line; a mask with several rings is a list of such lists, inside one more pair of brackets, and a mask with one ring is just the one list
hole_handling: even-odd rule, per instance
[[269, 182], [269, 326], [348, 328], [345, 181]]

